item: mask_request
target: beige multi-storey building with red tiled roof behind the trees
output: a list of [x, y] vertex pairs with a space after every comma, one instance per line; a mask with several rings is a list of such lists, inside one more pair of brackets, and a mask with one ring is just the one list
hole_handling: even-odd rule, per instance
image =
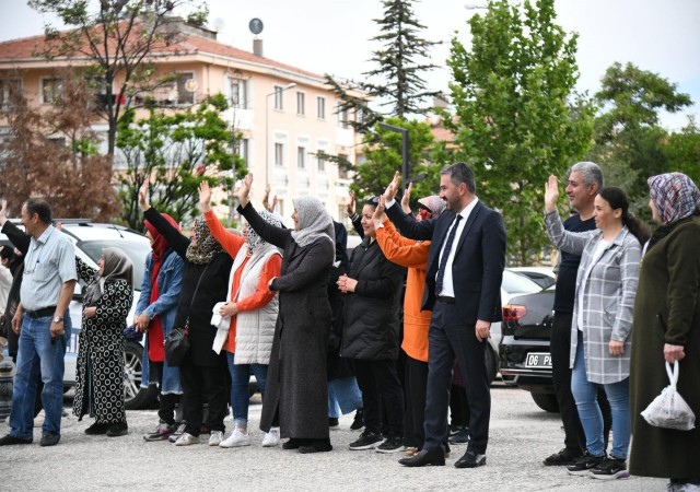
[[[0, 43], [0, 105], [18, 87], [35, 105], [49, 105], [60, 95], [56, 74], [69, 61], [37, 56], [44, 43], [43, 35]], [[223, 93], [231, 103], [223, 116], [243, 133], [237, 151], [255, 176], [254, 200], [261, 199], [269, 183], [278, 196], [277, 211], [285, 219], [293, 211], [291, 199], [307, 195], [318, 197], [334, 218], [342, 219], [349, 176], [317, 153], [355, 163], [358, 136], [346, 122], [353, 116], [336, 114], [338, 99], [323, 75], [267, 59], [257, 43], [254, 54], [219, 43], [213, 32], [183, 25], [182, 38], [151, 58], [156, 75], [176, 73], [176, 81], [151, 95], [178, 108]], [[71, 66], [88, 62], [80, 57], [70, 61]], [[7, 121], [0, 115], [0, 132], [3, 127]], [[106, 132], [107, 126], [95, 120], [93, 128]], [[119, 168], [118, 155], [115, 166]]]

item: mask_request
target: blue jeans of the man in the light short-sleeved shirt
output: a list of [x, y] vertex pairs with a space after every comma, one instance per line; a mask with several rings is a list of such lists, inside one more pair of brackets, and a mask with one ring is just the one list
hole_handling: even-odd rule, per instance
[[51, 343], [51, 320], [54, 315], [37, 319], [26, 314], [22, 318], [18, 370], [14, 376], [12, 410], [10, 411], [10, 434], [23, 440], [33, 438], [34, 400], [39, 374], [44, 382], [42, 406], [46, 418], [43, 433], [61, 434], [61, 412], [63, 406], [63, 356], [70, 338], [70, 315], [66, 313], [66, 333], [56, 337]]

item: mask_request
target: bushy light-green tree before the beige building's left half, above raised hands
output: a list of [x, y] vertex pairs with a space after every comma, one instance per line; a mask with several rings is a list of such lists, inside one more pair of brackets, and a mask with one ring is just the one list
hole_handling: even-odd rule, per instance
[[151, 108], [142, 119], [133, 109], [125, 113], [117, 133], [117, 162], [126, 167], [119, 177], [125, 223], [143, 229], [138, 200], [147, 177], [153, 207], [180, 221], [197, 214], [202, 180], [231, 188], [245, 176], [245, 163], [234, 154], [240, 134], [221, 117], [226, 108], [225, 96], [217, 94], [177, 113]]

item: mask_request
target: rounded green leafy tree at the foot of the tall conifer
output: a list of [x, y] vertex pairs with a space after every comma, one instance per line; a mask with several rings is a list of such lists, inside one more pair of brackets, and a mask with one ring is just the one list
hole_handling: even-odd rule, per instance
[[[408, 130], [409, 167], [411, 176], [418, 178], [412, 198], [438, 195], [440, 169], [451, 162], [452, 152], [444, 142], [435, 143], [427, 122], [396, 117], [387, 118], [386, 122]], [[383, 192], [394, 173], [401, 168], [401, 134], [375, 125], [372, 132], [364, 134], [363, 154], [366, 161], [358, 165], [350, 189], [358, 197], [369, 198]]]

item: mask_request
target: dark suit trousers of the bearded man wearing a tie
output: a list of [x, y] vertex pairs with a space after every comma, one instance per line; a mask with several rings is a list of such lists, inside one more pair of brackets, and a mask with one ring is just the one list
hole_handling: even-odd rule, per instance
[[447, 409], [455, 360], [467, 390], [469, 444], [467, 449], [485, 454], [489, 441], [491, 393], [486, 371], [486, 341], [475, 326], [458, 320], [455, 304], [435, 303], [428, 336], [428, 394], [423, 449], [444, 449], [447, 442]]

